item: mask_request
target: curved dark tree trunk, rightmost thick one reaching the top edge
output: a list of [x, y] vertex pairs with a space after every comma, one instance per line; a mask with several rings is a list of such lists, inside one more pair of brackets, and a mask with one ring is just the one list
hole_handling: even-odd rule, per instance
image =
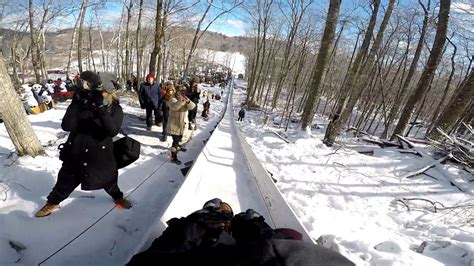
[[394, 139], [395, 136], [404, 135], [406, 126], [410, 121], [413, 110], [415, 109], [416, 104], [423, 98], [428, 85], [430, 83], [433, 74], [438, 67], [439, 61], [441, 60], [441, 55], [444, 48], [444, 43], [446, 41], [446, 34], [448, 31], [448, 21], [449, 21], [449, 10], [450, 10], [451, 0], [441, 0], [440, 10], [438, 15], [438, 26], [436, 28], [436, 36], [433, 42], [433, 47], [431, 49], [428, 62], [426, 67], [421, 74], [421, 78], [418, 81], [418, 84], [415, 88], [415, 91], [408, 99], [408, 102], [403, 108], [402, 115], [400, 120], [395, 127], [391, 139]]

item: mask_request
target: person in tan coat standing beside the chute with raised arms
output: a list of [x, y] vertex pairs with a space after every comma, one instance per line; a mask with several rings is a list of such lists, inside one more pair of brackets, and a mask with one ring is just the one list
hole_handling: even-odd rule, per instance
[[169, 95], [167, 98], [169, 99], [167, 104], [170, 108], [167, 132], [173, 138], [171, 145], [171, 162], [179, 165], [181, 161], [178, 160], [178, 151], [185, 151], [179, 145], [179, 142], [183, 138], [184, 118], [186, 117], [187, 111], [193, 110], [196, 105], [186, 96], [184, 87], [178, 89], [177, 93]]

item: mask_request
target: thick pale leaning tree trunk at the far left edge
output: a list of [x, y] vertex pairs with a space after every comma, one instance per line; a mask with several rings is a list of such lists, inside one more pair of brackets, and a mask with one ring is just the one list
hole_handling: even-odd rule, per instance
[[23, 104], [15, 92], [3, 56], [0, 55], [0, 113], [18, 155], [37, 156], [44, 153]]

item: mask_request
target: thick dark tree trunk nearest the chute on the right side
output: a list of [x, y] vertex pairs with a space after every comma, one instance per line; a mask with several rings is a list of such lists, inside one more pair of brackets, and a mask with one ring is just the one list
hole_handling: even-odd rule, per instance
[[309, 131], [309, 126], [313, 122], [314, 114], [316, 113], [316, 105], [319, 99], [322, 84], [324, 82], [324, 76], [328, 69], [328, 61], [336, 34], [337, 19], [339, 17], [339, 8], [341, 5], [340, 0], [331, 0], [329, 3], [328, 16], [326, 18], [326, 25], [324, 27], [323, 38], [321, 40], [321, 46], [319, 48], [318, 57], [314, 65], [314, 72], [311, 77], [311, 92], [306, 100], [301, 130]]

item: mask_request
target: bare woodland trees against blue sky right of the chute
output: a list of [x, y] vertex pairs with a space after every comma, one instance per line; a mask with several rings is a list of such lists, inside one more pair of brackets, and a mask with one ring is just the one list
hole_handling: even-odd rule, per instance
[[449, 0], [347, 2], [254, 1], [246, 104], [286, 129], [301, 116], [303, 131], [318, 110], [328, 146], [344, 127], [389, 139], [472, 132], [472, 15], [453, 19], [470, 14]]

